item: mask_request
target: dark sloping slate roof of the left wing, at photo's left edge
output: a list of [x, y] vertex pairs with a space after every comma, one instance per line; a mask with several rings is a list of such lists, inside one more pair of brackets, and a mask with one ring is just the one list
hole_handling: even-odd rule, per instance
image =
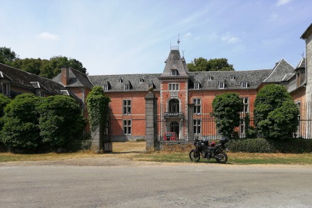
[[53, 80], [28, 73], [5, 64], [0, 64], [0, 71], [3, 78], [10, 80], [11, 83], [21, 87], [32, 89], [44, 89], [45, 92], [51, 94], [60, 94], [60, 90], [65, 89], [63, 85], [55, 83]]

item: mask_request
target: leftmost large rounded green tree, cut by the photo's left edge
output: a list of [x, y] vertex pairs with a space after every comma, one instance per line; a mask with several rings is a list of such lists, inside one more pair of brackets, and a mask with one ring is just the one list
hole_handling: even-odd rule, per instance
[[40, 144], [38, 112], [41, 98], [20, 94], [4, 110], [1, 140], [11, 149], [35, 149]]

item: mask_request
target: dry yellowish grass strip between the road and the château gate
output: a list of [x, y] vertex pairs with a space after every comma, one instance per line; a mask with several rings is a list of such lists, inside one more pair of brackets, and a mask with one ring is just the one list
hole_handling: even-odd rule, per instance
[[[46, 153], [46, 154], [13, 154], [0, 153], [0, 162], [17, 161], [44, 161], [62, 160], [83, 157], [121, 157], [136, 161], [150, 162], [186, 162], [190, 163], [187, 152], [168, 153], [155, 152], [144, 153], [145, 142], [114, 142], [113, 153], [95, 154], [92, 151], [81, 151], [79, 153]], [[312, 153], [304, 154], [260, 154], [260, 153], [228, 153], [228, 164], [312, 164]], [[215, 163], [215, 159], [208, 161], [200, 159], [199, 162]]]

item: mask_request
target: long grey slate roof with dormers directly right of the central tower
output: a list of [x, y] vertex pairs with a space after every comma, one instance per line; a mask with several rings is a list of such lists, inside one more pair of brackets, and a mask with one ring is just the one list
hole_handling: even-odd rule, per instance
[[[194, 89], [193, 83], [195, 82], [200, 83], [200, 89], [219, 89], [220, 82], [224, 82], [224, 89], [243, 89], [242, 82], [247, 83], [247, 89], [256, 89], [271, 71], [272, 69], [189, 72], [189, 89]], [[231, 80], [232, 76], [233, 80]], [[208, 80], [208, 77], [211, 77], [211, 80]]]

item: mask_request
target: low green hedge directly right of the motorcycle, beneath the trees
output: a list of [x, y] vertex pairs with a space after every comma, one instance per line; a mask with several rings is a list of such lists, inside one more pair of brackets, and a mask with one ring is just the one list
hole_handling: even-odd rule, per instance
[[227, 148], [232, 152], [243, 153], [274, 153], [275, 149], [266, 139], [231, 139]]

